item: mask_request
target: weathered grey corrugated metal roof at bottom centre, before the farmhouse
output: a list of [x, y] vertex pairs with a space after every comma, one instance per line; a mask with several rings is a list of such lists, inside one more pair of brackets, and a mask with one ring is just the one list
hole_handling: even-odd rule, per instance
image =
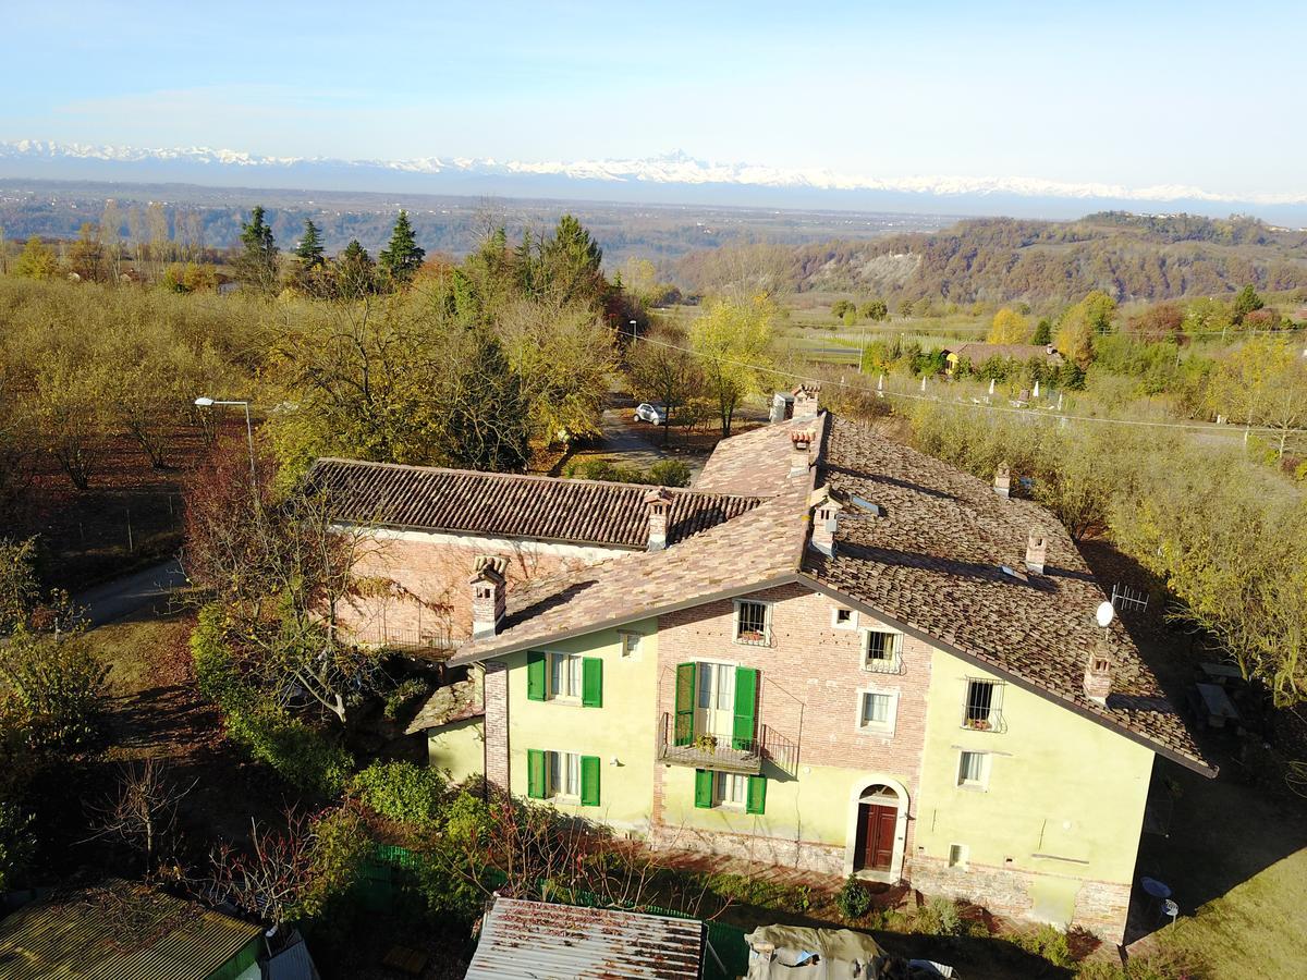
[[467, 980], [698, 980], [703, 924], [495, 899]]

